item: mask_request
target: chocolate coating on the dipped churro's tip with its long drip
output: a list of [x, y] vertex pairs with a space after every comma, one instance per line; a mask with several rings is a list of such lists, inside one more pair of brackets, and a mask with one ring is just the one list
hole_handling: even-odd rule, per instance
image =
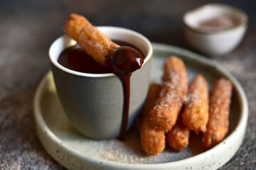
[[129, 117], [130, 77], [132, 72], [142, 67], [143, 62], [142, 54], [133, 47], [127, 46], [114, 48], [106, 57], [107, 67], [121, 79], [124, 91], [122, 128], [119, 140], [124, 140]]

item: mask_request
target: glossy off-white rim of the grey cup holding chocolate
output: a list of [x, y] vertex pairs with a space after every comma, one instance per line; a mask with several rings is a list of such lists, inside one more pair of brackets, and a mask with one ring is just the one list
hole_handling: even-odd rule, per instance
[[[139, 37], [141, 40], [143, 40], [146, 43], [146, 46], [149, 47], [149, 50], [144, 58], [144, 63], [142, 64], [142, 67], [144, 66], [144, 64], [146, 64], [147, 62], [149, 62], [149, 60], [151, 59], [152, 55], [153, 55], [153, 47], [151, 45], [151, 42], [141, 33], [138, 33], [134, 30], [130, 30], [127, 28], [121, 28], [121, 27], [114, 27], [114, 26], [97, 26], [97, 28], [99, 28], [100, 30], [116, 30], [116, 31], [122, 31], [124, 33], [129, 33], [132, 35], [136, 35], [137, 37]], [[113, 77], [115, 76], [114, 73], [102, 73], [102, 74], [91, 74], [91, 73], [84, 73], [84, 72], [77, 72], [74, 71], [72, 69], [68, 69], [66, 67], [63, 67], [61, 64], [58, 63], [55, 55], [53, 55], [53, 50], [55, 50], [55, 43], [57, 43], [60, 39], [70, 39], [73, 40], [72, 38], [68, 37], [68, 35], [62, 35], [59, 38], [57, 38], [56, 40], [53, 41], [53, 43], [50, 45], [49, 48], [49, 58], [50, 58], [50, 62], [52, 64], [55, 65], [55, 67], [58, 67], [58, 69], [61, 69], [63, 72], [68, 72], [70, 74], [75, 74], [78, 76], [82, 76], [82, 77]], [[77, 42], [75, 40], [73, 40], [73, 44], [75, 45]], [[135, 71], [136, 72], [136, 71]]]

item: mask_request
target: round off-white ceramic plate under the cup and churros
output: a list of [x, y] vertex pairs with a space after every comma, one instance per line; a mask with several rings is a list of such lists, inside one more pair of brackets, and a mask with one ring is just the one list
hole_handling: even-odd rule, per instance
[[151, 81], [161, 83], [162, 66], [166, 57], [176, 55], [185, 62], [191, 80], [203, 74], [210, 84], [220, 77], [233, 82], [230, 109], [230, 128], [223, 142], [203, 152], [201, 136], [191, 134], [188, 148], [174, 152], [166, 147], [154, 157], [146, 157], [139, 142], [137, 123], [119, 140], [90, 140], [80, 135], [65, 116], [51, 72], [39, 84], [34, 98], [34, 112], [38, 137], [53, 159], [67, 169], [218, 169], [237, 152], [245, 135], [248, 106], [238, 81], [223, 67], [206, 57], [171, 45], [153, 43], [154, 56]]

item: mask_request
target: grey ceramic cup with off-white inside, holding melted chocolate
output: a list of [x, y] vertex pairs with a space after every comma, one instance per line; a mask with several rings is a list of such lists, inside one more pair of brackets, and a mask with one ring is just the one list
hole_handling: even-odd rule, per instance
[[[127, 130], [141, 110], [149, 87], [152, 46], [143, 35], [117, 27], [98, 27], [112, 40], [129, 42], [144, 55], [144, 64], [132, 74]], [[122, 82], [112, 74], [87, 74], [58, 63], [60, 53], [75, 45], [63, 35], [50, 46], [49, 56], [58, 97], [70, 123], [83, 135], [94, 139], [118, 137], [122, 126], [124, 94]]]

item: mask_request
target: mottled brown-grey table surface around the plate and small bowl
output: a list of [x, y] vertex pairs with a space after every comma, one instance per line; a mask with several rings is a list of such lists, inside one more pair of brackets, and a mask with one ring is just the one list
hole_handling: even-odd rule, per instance
[[36, 135], [33, 97], [50, 69], [48, 48], [60, 35], [70, 13], [96, 26], [137, 30], [152, 42], [192, 50], [183, 38], [182, 16], [191, 8], [223, 2], [249, 16], [242, 43], [212, 60], [242, 84], [249, 119], [242, 146], [221, 169], [256, 169], [256, 2], [250, 1], [18, 1], [0, 0], [0, 169], [64, 169], [43, 149]]

